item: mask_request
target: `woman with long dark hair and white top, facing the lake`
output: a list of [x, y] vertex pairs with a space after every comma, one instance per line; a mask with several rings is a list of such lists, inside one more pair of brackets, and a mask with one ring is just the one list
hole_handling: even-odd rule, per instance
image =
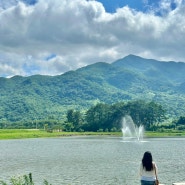
[[153, 162], [151, 152], [147, 151], [143, 155], [140, 165], [141, 185], [155, 185], [157, 179], [157, 166]]

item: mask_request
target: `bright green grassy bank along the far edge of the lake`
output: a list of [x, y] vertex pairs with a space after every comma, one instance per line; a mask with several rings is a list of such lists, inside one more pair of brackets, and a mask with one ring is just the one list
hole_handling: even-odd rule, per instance
[[[121, 132], [46, 132], [39, 129], [0, 129], [0, 140], [88, 135], [122, 137]], [[144, 137], [185, 137], [185, 132], [145, 132]]]

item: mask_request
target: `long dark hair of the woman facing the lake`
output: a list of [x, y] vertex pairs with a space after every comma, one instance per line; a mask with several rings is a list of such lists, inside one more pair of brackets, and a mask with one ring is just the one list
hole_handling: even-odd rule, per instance
[[153, 170], [152, 161], [153, 161], [153, 159], [152, 159], [151, 152], [149, 152], [149, 151], [145, 152], [144, 155], [143, 155], [142, 164], [143, 164], [143, 168], [145, 168], [146, 171]]

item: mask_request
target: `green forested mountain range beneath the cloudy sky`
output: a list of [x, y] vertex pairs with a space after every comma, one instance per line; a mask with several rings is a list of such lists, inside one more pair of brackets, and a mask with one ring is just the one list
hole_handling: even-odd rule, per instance
[[146, 100], [160, 103], [169, 116], [185, 112], [185, 63], [129, 55], [58, 76], [0, 78], [0, 123], [64, 119], [69, 109]]

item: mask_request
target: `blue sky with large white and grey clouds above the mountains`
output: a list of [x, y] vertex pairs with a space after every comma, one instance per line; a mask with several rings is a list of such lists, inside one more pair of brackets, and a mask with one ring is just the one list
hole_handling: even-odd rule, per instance
[[0, 77], [129, 54], [185, 62], [185, 0], [0, 0]]

